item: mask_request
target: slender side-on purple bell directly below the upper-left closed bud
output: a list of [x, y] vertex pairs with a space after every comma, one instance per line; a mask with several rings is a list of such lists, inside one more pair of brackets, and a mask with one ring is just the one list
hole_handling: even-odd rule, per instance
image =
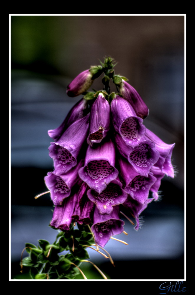
[[65, 117], [62, 124], [53, 130], [48, 130], [48, 135], [53, 138], [54, 141], [57, 141], [61, 135], [66, 131], [66, 129], [73, 124], [78, 119], [83, 118], [86, 114], [85, 111], [87, 110], [87, 100], [81, 98], [70, 110], [68, 115]]

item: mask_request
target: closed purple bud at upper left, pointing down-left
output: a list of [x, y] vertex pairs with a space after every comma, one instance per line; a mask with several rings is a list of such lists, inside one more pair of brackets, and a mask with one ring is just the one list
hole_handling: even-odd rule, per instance
[[94, 80], [91, 80], [92, 74], [89, 70], [80, 73], [74, 80], [68, 85], [66, 93], [68, 96], [74, 97], [87, 91], [93, 84]]

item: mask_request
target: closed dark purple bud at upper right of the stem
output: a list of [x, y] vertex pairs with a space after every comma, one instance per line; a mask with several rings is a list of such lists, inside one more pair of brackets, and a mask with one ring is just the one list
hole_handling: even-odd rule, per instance
[[131, 104], [138, 117], [144, 119], [148, 116], [149, 109], [147, 105], [135, 88], [124, 80], [120, 84], [120, 94]]

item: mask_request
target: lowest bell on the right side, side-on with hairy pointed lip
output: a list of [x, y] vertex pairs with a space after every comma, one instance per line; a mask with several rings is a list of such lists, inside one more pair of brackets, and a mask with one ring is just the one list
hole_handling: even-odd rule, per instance
[[140, 214], [147, 208], [148, 204], [151, 203], [153, 199], [147, 199], [144, 204], [141, 202], [134, 200], [130, 195], [128, 195], [127, 200], [123, 203], [124, 207], [129, 209], [131, 212], [132, 216], [136, 220], [136, 225], [135, 225], [135, 230], [139, 230], [141, 226], [140, 222]]

